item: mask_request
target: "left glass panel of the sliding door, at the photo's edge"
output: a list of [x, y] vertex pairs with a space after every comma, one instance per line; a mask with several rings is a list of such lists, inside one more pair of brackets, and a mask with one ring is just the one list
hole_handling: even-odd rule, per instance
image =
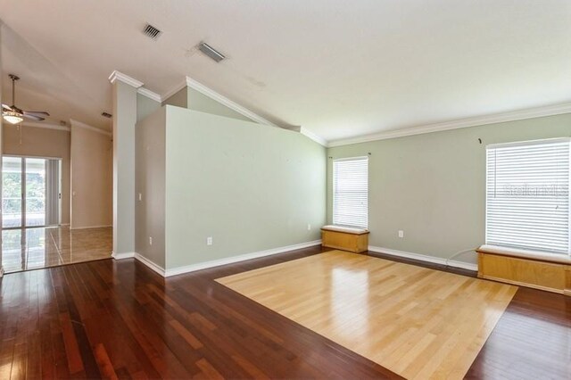
[[22, 160], [2, 159], [2, 227], [22, 226]]

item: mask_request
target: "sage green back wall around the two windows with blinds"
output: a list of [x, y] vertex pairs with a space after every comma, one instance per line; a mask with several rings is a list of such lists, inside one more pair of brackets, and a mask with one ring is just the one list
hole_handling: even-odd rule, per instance
[[[447, 258], [484, 244], [485, 145], [560, 136], [571, 136], [571, 114], [344, 145], [329, 148], [327, 156], [371, 153], [370, 245]], [[331, 170], [329, 159], [328, 223]], [[458, 260], [476, 262], [476, 255]]]

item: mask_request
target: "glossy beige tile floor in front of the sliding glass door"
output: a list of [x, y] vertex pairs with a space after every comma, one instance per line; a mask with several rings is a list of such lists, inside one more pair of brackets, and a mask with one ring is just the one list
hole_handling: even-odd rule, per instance
[[111, 258], [112, 227], [38, 227], [2, 231], [5, 273]]

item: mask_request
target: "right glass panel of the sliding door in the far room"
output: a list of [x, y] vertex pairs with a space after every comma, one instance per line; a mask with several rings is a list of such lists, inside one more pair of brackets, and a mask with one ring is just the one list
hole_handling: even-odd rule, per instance
[[46, 160], [25, 159], [26, 227], [46, 225]]

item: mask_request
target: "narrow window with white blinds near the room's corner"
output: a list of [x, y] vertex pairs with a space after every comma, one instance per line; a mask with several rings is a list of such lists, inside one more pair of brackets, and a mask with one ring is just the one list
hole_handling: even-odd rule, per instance
[[333, 224], [368, 227], [368, 157], [333, 161]]

